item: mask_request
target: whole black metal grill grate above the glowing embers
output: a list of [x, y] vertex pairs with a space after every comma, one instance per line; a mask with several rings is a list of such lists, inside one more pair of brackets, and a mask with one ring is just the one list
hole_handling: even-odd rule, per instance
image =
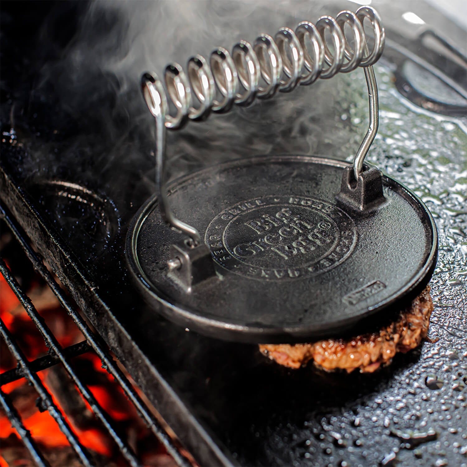
[[[137, 455], [134, 453], [134, 450], [116, 431], [111, 417], [109, 417], [106, 411], [101, 407], [90, 389], [81, 380], [70, 364], [71, 358], [93, 350], [100, 358], [103, 368], [106, 368], [108, 373], [112, 375], [114, 380], [120, 385], [129, 401], [134, 405], [134, 408], [138, 412], [139, 416], [142, 417], [145, 424], [156, 436], [159, 442], [162, 443], [175, 462], [179, 466], [191, 466], [191, 462], [184, 456], [182, 450], [176, 446], [174, 441], [165, 432], [163, 426], [154, 417], [154, 415], [149, 410], [149, 407], [142, 401], [142, 398], [137, 394], [126, 375], [113, 360], [112, 355], [107, 350], [106, 344], [97, 334], [92, 331], [89, 325], [87, 325], [85, 320], [81, 317], [79, 312], [71, 304], [64, 291], [61, 289], [55, 278], [45, 266], [41, 257], [35, 253], [34, 249], [31, 247], [26, 234], [21, 230], [21, 227], [16, 224], [12, 216], [6, 212], [3, 206], [0, 208], [0, 215], [1, 218], [6, 222], [16, 240], [20, 243], [34, 269], [49, 285], [50, 289], [54, 292], [64, 310], [71, 316], [74, 323], [85, 337], [85, 340], [77, 344], [71, 345], [69, 347], [62, 347], [58, 343], [54, 334], [50, 331], [50, 328], [46, 325], [45, 321], [39, 315], [28, 295], [16, 281], [10, 269], [8, 269], [3, 258], [0, 259], [0, 272], [2, 276], [4, 276], [6, 282], [14, 291], [16, 297], [18, 297], [21, 305], [24, 307], [28, 313], [29, 318], [31, 318], [39, 332], [42, 334], [42, 338], [44, 339], [46, 346], [49, 348], [48, 355], [37, 358], [34, 361], [28, 361], [27, 357], [23, 354], [20, 347], [16, 343], [13, 335], [8, 331], [5, 323], [0, 320], [1, 336], [3, 340], [5, 340], [7, 347], [10, 349], [11, 353], [17, 361], [16, 368], [5, 371], [0, 375], [0, 386], [4, 386], [7, 383], [16, 381], [23, 377], [26, 378], [28, 383], [31, 384], [39, 394], [40, 407], [49, 411], [50, 415], [54, 418], [60, 427], [60, 430], [64, 433], [66, 439], [70, 443], [70, 446], [78, 456], [80, 462], [85, 466], [91, 466], [94, 463], [92, 455], [88, 452], [85, 446], [81, 444], [78, 436], [66, 421], [64, 414], [53, 402], [49, 391], [46, 389], [41, 379], [37, 375], [38, 371], [50, 368], [56, 364], [62, 364], [71, 380], [74, 382], [79, 392], [84, 397], [85, 401], [91, 407], [94, 415], [100, 420], [108, 435], [118, 446], [121, 455], [124, 457], [128, 465], [140, 466], [142, 465], [142, 461], [138, 459]], [[21, 421], [21, 417], [15, 410], [9, 396], [4, 391], [0, 392], [0, 402], [2, 404], [3, 410], [5, 410], [7, 413], [10, 422], [20, 435], [34, 462], [39, 466], [49, 465], [47, 460], [44, 459], [42, 453], [38, 449], [34, 439], [31, 437], [31, 433], [24, 427]]]

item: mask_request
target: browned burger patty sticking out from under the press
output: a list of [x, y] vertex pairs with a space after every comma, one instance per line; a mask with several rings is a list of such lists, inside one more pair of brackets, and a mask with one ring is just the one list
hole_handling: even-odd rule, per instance
[[336, 369], [348, 373], [359, 368], [372, 373], [381, 365], [389, 365], [397, 352], [406, 353], [425, 339], [433, 311], [430, 287], [399, 312], [398, 318], [375, 333], [353, 339], [325, 339], [312, 344], [262, 344], [260, 351], [271, 360], [290, 368], [300, 368], [310, 360], [326, 371]]

